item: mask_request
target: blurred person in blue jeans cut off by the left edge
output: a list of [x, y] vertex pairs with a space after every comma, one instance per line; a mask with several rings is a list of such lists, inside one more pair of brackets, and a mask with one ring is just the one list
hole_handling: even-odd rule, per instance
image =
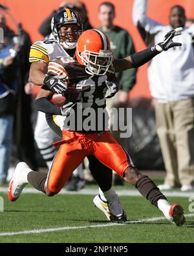
[[4, 29], [4, 44], [0, 44], [0, 184], [6, 183], [14, 124], [16, 83], [16, 60], [14, 56], [14, 32], [0, 14], [0, 27]]

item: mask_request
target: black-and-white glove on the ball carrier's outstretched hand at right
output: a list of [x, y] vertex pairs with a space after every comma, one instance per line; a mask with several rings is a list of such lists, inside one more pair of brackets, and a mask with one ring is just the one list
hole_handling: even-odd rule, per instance
[[167, 32], [167, 34], [164, 36], [163, 41], [155, 45], [156, 51], [167, 51], [171, 47], [181, 46], [182, 44], [175, 43], [172, 40], [174, 36], [179, 36], [180, 34], [182, 34], [181, 31], [182, 27], [177, 27], [177, 29], [172, 29], [171, 31]]

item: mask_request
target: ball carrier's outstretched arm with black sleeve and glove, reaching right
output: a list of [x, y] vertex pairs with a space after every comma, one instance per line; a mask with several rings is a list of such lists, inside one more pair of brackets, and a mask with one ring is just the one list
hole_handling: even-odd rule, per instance
[[162, 51], [167, 51], [171, 47], [181, 46], [180, 43], [173, 42], [173, 37], [182, 34], [181, 31], [182, 27], [173, 29], [167, 32], [162, 42], [156, 44], [154, 47], [147, 48], [146, 50], [139, 51], [138, 53], [134, 53], [133, 55], [122, 59], [114, 59], [113, 66], [115, 72], [129, 70], [129, 68], [138, 68]]

